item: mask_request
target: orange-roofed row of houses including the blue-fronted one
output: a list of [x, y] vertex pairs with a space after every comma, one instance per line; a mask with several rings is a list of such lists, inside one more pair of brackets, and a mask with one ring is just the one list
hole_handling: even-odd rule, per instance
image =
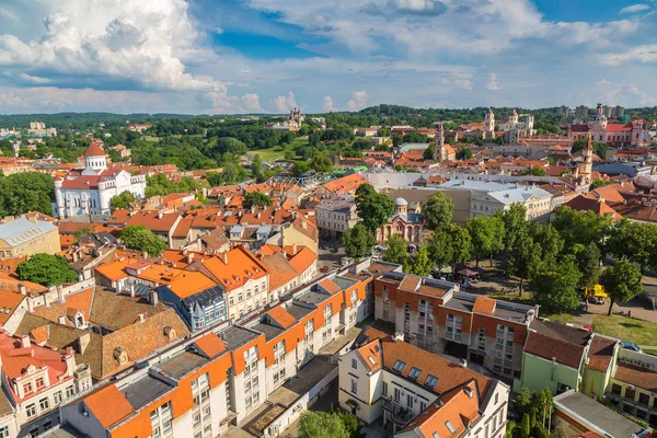
[[289, 253], [270, 249], [262, 257], [242, 246], [220, 255], [168, 250], [157, 262], [119, 257], [95, 268], [99, 284], [132, 295], [154, 293], [192, 331], [260, 312], [316, 272], [316, 254], [297, 245]]

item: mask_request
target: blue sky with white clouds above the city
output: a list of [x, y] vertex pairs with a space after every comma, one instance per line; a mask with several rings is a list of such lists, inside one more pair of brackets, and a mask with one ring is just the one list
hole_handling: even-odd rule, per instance
[[657, 1], [0, 0], [0, 113], [657, 105]]

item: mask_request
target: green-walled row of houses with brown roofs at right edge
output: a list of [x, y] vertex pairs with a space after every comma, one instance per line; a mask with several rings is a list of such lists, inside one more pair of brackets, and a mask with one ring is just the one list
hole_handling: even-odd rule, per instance
[[619, 339], [553, 322], [530, 325], [514, 390], [584, 393], [657, 427], [657, 358]]

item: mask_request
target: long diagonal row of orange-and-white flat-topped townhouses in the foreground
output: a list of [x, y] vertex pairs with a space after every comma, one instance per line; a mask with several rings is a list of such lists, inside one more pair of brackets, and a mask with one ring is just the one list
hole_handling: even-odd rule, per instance
[[[93, 437], [224, 435], [261, 415], [286, 381], [315, 368], [313, 359], [335, 368], [318, 355], [349, 341], [343, 335], [373, 311], [373, 275], [391, 268], [355, 265], [241, 324], [205, 327], [62, 405], [62, 427]], [[296, 416], [270, 418], [263, 435], [285, 429], [302, 408], [289, 411]]]

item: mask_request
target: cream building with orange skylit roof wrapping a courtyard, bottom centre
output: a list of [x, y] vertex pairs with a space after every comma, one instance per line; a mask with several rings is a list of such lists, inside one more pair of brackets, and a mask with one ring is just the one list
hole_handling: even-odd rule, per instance
[[394, 437], [502, 437], [510, 389], [366, 327], [339, 357], [339, 404]]

